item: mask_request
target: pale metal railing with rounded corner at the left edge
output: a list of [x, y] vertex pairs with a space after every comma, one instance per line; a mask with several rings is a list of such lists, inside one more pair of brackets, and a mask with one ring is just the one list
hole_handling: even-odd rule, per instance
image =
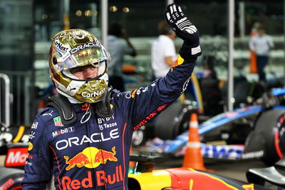
[[[4, 87], [2, 88], [3, 83], [4, 83]], [[0, 89], [1, 89], [1, 93], [0, 93], [1, 126], [9, 127], [10, 121], [11, 121], [10, 119], [10, 79], [6, 74], [0, 74]], [[4, 118], [2, 118], [2, 116], [4, 116]]]

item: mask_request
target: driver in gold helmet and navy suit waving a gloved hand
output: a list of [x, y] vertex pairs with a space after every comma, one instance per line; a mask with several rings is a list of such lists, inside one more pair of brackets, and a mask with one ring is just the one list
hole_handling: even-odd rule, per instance
[[[170, 4], [167, 23], [184, 40], [162, 79], [120, 92], [108, 88], [108, 51], [88, 31], [52, 38], [50, 75], [58, 90], [31, 126], [23, 189], [128, 189], [133, 131], [160, 114], [187, 88], [197, 56], [196, 27]], [[167, 126], [165, 126], [167, 127]]]

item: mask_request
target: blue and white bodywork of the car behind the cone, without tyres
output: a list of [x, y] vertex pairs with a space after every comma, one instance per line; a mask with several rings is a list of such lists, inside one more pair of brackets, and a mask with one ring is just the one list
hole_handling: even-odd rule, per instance
[[[271, 89], [266, 97], [263, 97], [262, 104], [246, 106], [244, 108], [234, 109], [233, 111], [227, 111], [211, 119], [204, 121], [199, 124], [199, 135], [203, 136], [214, 129], [218, 129], [221, 126], [230, 124], [237, 119], [246, 118], [248, 116], [253, 116], [257, 118], [261, 113], [269, 110], [281, 110], [285, 111], [285, 105], [279, 104], [280, 99], [284, 99], [285, 89]], [[283, 101], [284, 103], [284, 101]], [[255, 128], [258, 126], [255, 126]], [[175, 137], [172, 140], [161, 140], [154, 139], [152, 141], [151, 148], [154, 151], [173, 154], [175, 156], [184, 154], [185, 145], [187, 144], [189, 136], [189, 131], [184, 131], [182, 134]], [[245, 146], [233, 146], [233, 145], [223, 145], [223, 146], [213, 146], [209, 144], [201, 144], [202, 155], [204, 157], [211, 157], [217, 159], [247, 159], [252, 157], [261, 157], [263, 151], [259, 154], [259, 151], [254, 152], [254, 156], [243, 155]], [[262, 148], [261, 148], [262, 149]], [[210, 152], [210, 153], [209, 153]], [[232, 156], [234, 153], [234, 156]]]

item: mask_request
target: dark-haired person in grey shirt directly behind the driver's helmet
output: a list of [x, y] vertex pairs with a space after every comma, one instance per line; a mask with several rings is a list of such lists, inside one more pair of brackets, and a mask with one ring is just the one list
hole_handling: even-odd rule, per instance
[[109, 85], [119, 91], [125, 91], [123, 81], [124, 56], [136, 56], [137, 52], [130, 43], [127, 32], [117, 22], [108, 26], [108, 51], [113, 57], [108, 62]]

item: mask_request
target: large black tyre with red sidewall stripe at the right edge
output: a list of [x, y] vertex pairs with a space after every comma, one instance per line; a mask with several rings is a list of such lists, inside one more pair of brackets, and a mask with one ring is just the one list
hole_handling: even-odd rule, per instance
[[254, 132], [260, 133], [263, 137], [263, 139], [260, 139], [260, 143], [264, 141], [264, 155], [261, 157], [261, 160], [269, 166], [272, 166], [284, 154], [281, 152], [282, 147], [285, 146], [285, 144], [281, 144], [283, 142], [281, 141], [281, 136], [284, 134], [285, 128], [284, 117], [285, 110], [266, 111], [264, 114], [261, 114], [255, 125], [256, 129], [254, 129]]

